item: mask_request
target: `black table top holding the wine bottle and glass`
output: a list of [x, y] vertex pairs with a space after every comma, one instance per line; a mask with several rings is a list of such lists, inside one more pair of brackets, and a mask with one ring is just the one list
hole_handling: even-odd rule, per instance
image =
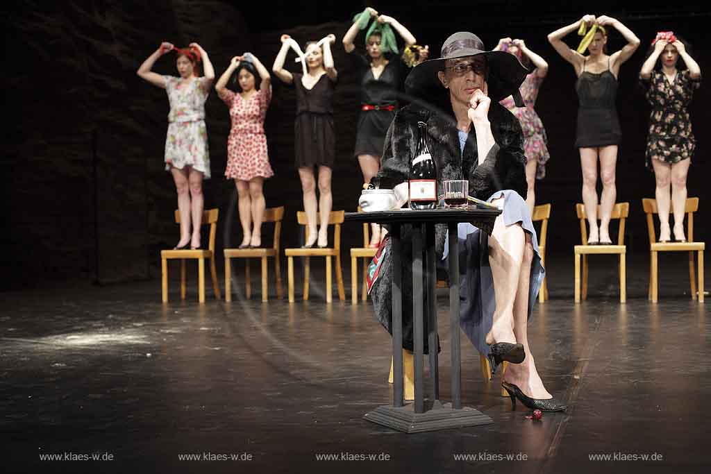
[[479, 209], [474, 206], [462, 209], [397, 209], [378, 212], [346, 212], [346, 220], [350, 222], [378, 222], [380, 224], [407, 224], [412, 222], [434, 222], [447, 224], [449, 222], [492, 222], [501, 214], [498, 209]]

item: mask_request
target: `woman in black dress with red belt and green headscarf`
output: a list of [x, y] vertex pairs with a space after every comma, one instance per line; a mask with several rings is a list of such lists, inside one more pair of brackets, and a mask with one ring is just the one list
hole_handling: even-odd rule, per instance
[[[355, 51], [353, 41], [358, 32], [365, 30], [365, 54]], [[405, 41], [405, 47], [415, 45], [415, 36], [391, 16], [378, 15], [368, 7], [353, 18], [353, 26], [343, 36], [343, 48], [356, 61], [361, 77], [360, 116], [353, 155], [358, 157], [363, 180], [370, 179], [380, 169], [385, 132], [395, 117], [397, 94], [405, 79], [405, 65], [400, 58], [395, 33]], [[380, 226], [373, 224], [370, 247], [380, 244]]]

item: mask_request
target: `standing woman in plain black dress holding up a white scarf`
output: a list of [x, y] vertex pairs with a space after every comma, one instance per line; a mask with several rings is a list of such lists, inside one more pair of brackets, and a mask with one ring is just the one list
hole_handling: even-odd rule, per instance
[[[306, 43], [302, 62], [304, 73], [284, 69], [289, 48], [300, 52], [289, 35], [282, 35], [282, 49], [274, 60], [274, 75], [296, 89], [296, 119], [294, 120], [294, 151], [299, 168], [304, 211], [308, 220], [308, 237], [304, 247], [328, 246], [328, 215], [333, 206], [331, 169], [336, 156], [336, 130], [333, 126], [333, 88], [338, 72], [333, 65], [331, 44], [336, 36], [328, 35], [318, 43]], [[316, 232], [316, 175], [319, 170], [318, 210], [321, 227]]]

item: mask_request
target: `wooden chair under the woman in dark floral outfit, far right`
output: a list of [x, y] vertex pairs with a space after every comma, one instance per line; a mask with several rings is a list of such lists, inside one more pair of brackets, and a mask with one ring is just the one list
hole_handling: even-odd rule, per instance
[[648, 298], [652, 303], [657, 302], [658, 296], [658, 252], [689, 252], [689, 280], [691, 282], [691, 298], [697, 298], [696, 278], [694, 271], [694, 252], [698, 254], [698, 300], [699, 303], [704, 302], [704, 242], [694, 242], [694, 212], [699, 209], [699, 198], [688, 198], [686, 200], [686, 222], [687, 222], [687, 242], [657, 242], [656, 233], [654, 232], [654, 220], [652, 215], [657, 214], [657, 201], [655, 199], [643, 199], [642, 207], [647, 215], [647, 230], [649, 233], [649, 254], [650, 254], [650, 269], [649, 269], [649, 291]]

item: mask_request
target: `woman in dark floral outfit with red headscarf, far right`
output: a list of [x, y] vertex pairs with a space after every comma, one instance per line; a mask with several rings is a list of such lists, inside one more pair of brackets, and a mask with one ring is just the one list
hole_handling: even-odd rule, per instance
[[[686, 66], [683, 70], [677, 68], [679, 58]], [[701, 70], [689, 55], [687, 44], [667, 31], [658, 33], [639, 77], [652, 107], [646, 165], [653, 168], [656, 176], [659, 242], [671, 239], [670, 207], [674, 214], [674, 240], [686, 242], [686, 176], [696, 146], [688, 107], [700, 85]]]

